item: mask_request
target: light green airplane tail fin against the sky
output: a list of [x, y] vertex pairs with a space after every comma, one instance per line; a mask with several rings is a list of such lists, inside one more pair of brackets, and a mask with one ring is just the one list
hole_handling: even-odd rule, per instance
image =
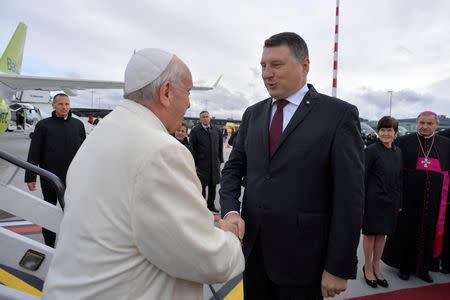
[[27, 25], [20, 22], [0, 59], [0, 72], [20, 74]]

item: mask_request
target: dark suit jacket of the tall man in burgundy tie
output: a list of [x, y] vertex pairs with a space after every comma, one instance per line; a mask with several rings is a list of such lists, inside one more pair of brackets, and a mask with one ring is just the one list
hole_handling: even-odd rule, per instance
[[249, 107], [222, 171], [222, 217], [239, 211], [245, 176], [244, 254], [260, 233], [266, 272], [279, 285], [320, 281], [324, 269], [356, 277], [364, 203], [358, 110], [308, 87], [272, 157], [272, 99]]

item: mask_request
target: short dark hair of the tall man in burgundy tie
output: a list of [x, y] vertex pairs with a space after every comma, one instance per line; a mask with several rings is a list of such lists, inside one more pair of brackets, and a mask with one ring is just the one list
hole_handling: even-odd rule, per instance
[[302, 62], [309, 57], [308, 46], [306, 42], [294, 32], [282, 32], [272, 35], [265, 40], [264, 48], [287, 45], [291, 51], [292, 56], [298, 61]]

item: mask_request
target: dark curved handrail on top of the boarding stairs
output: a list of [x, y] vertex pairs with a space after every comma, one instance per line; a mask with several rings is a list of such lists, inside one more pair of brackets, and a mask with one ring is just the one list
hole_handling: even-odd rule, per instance
[[3, 151], [1, 149], [0, 149], [0, 158], [12, 163], [13, 165], [20, 167], [22, 169], [36, 173], [37, 175], [48, 180], [55, 188], [56, 195], [58, 197], [58, 202], [61, 205], [62, 210], [64, 210], [64, 207], [65, 207], [64, 192], [66, 190], [66, 187], [64, 186], [64, 184], [62, 183], [61, 179], [59, 179], [58, 176], [56, 176], [55, 174], [53, 174], [47, 170], [39, 168], [36, 165], [30, 164], [29, 162], [26, 162], [26, 161], [23, 161], [22, 159], [14, 156], [12, 154], [9, 154], [8, 152]]

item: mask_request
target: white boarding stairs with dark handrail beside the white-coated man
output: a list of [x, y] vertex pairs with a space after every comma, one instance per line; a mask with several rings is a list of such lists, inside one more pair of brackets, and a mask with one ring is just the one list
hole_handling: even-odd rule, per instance
[[[3, 150], [0, 150], [0, 158], [11, 163], [3, 178], [0, 178], [0, 209], [58, 234], [64, 209], [65, 186], [61, 180], [53, 173]], [[20, 168], [48, 180], [56, 190], [60, 207], [13, 186], [11, 182]], [[0, 264], [45, 280], [55, 249], [2, 227], [0, 245]], [[39, 298], [0, 285], [0, 299]]]

